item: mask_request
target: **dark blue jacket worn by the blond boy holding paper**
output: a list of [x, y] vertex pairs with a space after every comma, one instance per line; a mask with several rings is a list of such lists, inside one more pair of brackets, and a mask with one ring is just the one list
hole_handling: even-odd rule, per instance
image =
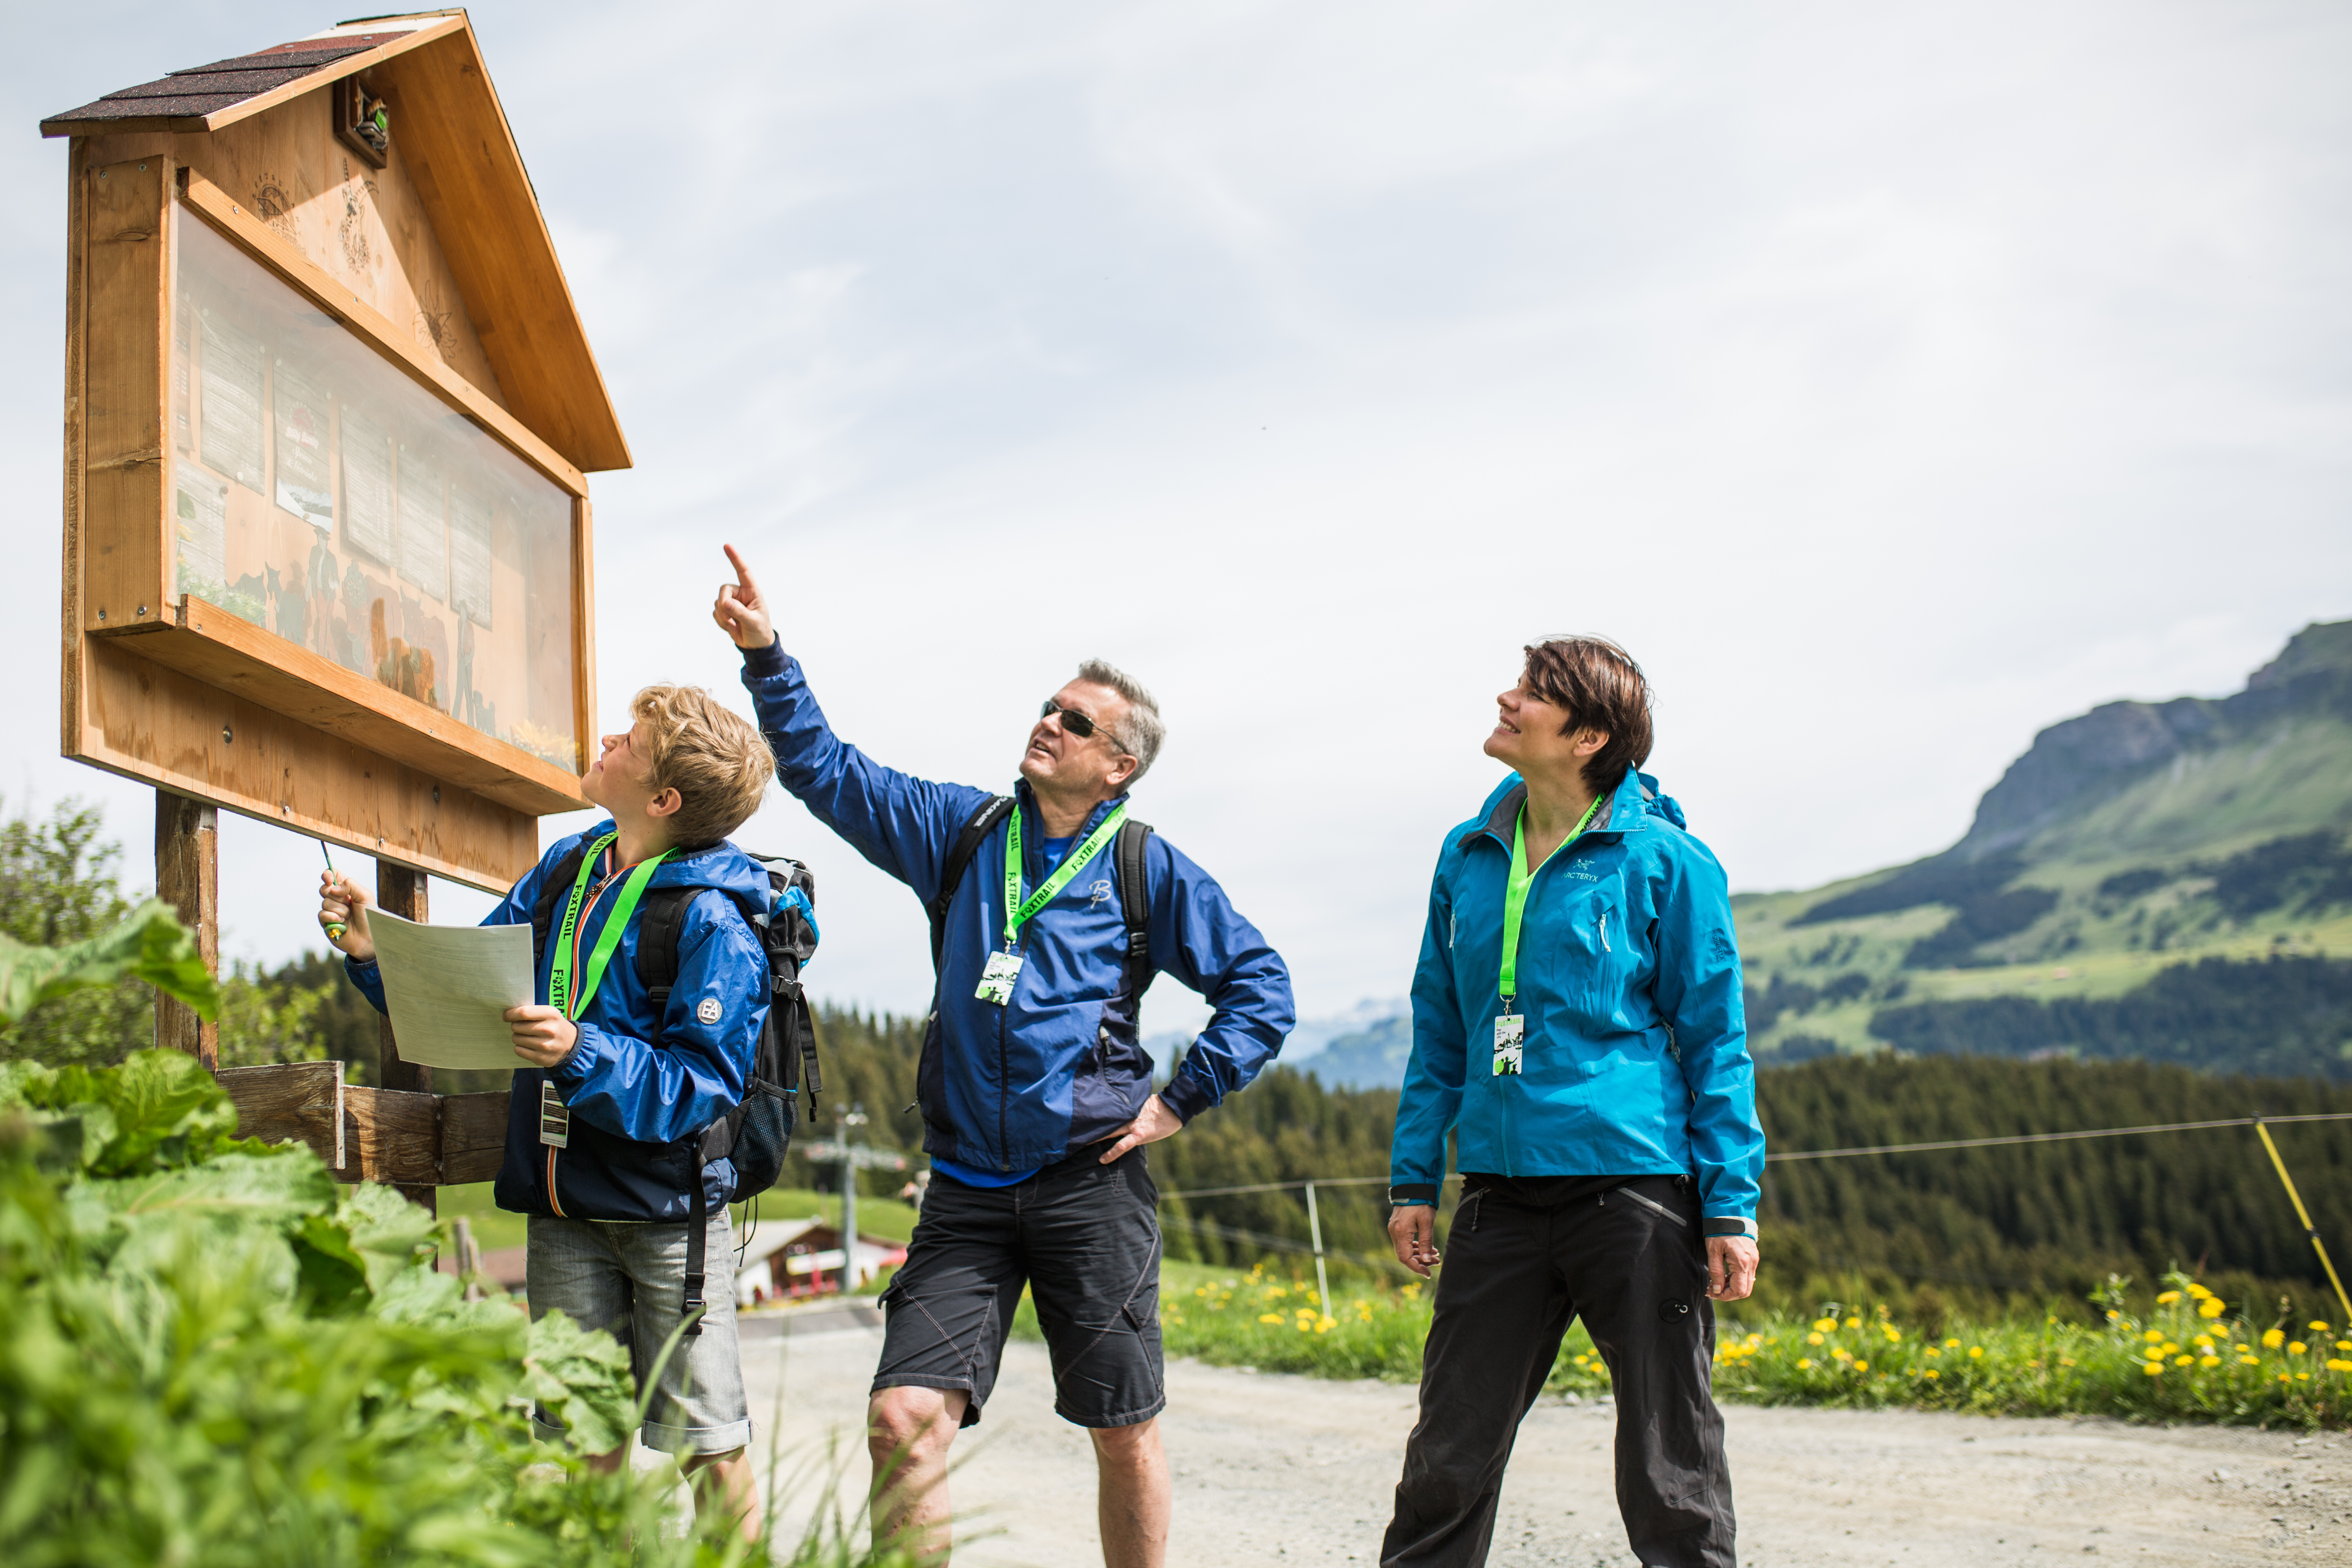
[[[539, 886], [574, 846], [593, 844], [607, 832], [612, 832], [609, 818], [557, 842], [482, 924], [532, 924]], [[595, 875], [590, 875], [593, 886]], [[767, 1023], [767, 952], [727, 893], [739, 893], [757, 907], [769, 903], [769, 884], [757, 860], [734, 844], [715, 844], [663, 860], [654, 870], [649, 891], [661, 886], [708, 889], [687, 905], [684, 929], [677, 936], [677, 983], [663, 1016], [652, 1016], [652, 997], [637, 983], [642, 922], [633, 919], [595, 997], [576, 1018], [581, 1039], [572, 1056], [548, 1072], [539, 1067], [515, 1072], [513, 1103], [506, 1112], [506, 1164], [496, 1185], [499, 1208], [572, 1220], [691, 1215], [694, 1143], [743, 1098], [753, 1051]], [[560, 889], [555, 898], [550, 924], [557, 929], [567, 896], [569, 889]], [[583, 954], [595, 947], [616, 900], [619, 886], [588, 910], [581, 922]], [[548, 999], [553, 931], [546, 947], [539, 954], [539, 1001]], [[383, 1011], [379, 969], [348, 959], [346, 969], [376, 1011]], [[710, 1023], [701, 1018], [706, 999], [720, 1004]], [[569, 1145], [562, 1150], [539, 1143], [541, 1079], [555, 1079], [555, 1091], [572, 1107]], [[734, 1180], [734, 1161], [720, 1159], [703, 1168], [703, 1190], [713, 1208], [731, 1199]]]

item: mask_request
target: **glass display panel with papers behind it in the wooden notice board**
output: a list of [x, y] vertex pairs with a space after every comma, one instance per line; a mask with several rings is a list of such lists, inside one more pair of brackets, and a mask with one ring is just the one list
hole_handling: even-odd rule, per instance
[[176, 592], [576, 771], [572, 496], [172, 223]]

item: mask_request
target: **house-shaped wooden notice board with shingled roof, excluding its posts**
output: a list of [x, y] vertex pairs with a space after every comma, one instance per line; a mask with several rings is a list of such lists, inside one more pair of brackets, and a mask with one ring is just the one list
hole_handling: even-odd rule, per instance
[[71, 136], [64, 750], [506, 889], [595, 715], [628, 444], [463, 12], [350, 21]]

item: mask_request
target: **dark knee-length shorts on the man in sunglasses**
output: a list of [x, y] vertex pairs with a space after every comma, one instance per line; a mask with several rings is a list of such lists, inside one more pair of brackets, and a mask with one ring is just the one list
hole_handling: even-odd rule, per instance
[[964, 1389], [964, 1425], [976, 1425], [1028, 1284], [1054, 1356], [1054, 1413], [1080, 1427], [1160, 1415], [1160, 1190], [1141, 1147], [1098, 1159], [1080, 1150], [1011, 1187], [931, 1173], [906, 1265], [882, 1293], [875, 1392]]

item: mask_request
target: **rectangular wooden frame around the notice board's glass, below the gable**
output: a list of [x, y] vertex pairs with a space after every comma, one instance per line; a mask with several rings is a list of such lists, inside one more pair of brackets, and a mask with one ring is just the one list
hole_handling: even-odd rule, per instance
[[569, 496], [574, 757], [595, 722], [588, 484], [576, 465], [240, 202], [169, 155], [75, 169], [68, 277], [64, 750], [118, 773], [503, 891], [574, 771], [174, 585], [174, 228], [202, 221]]

